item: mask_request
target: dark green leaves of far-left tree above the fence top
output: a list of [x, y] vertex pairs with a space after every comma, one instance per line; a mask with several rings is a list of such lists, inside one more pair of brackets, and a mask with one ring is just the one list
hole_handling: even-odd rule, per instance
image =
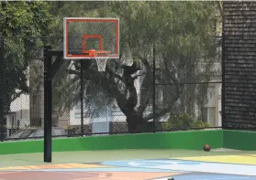
[[1, 2], [3, 37], [39, 37], [50, 31], [50, 4], [35, 2]]

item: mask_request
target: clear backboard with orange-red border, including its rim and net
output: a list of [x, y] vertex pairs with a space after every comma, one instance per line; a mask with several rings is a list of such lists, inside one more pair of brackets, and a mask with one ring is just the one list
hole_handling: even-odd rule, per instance
[[95, 59], [105, 71], [108, 59], [119, 58], [119, 37], [119, 18], [64, 17], [63, 58]]

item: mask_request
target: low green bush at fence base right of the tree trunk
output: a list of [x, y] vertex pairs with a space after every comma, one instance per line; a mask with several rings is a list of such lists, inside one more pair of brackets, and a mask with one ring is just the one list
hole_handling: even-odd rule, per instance
[[190, 129], [190, 128], [207, 128], [210, 124], [196, 120], [193, 116], [189, 114], [179, 114], [174, 115], [167, 122], [162, 124], [163, 130], [171, 129]]

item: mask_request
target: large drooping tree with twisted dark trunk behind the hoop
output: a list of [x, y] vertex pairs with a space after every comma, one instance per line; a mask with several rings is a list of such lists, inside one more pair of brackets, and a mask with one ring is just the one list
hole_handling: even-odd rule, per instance
[[[82, 11], [80, 5], [94, 8]], [[72, 11], [72, 6], [76, 7], [76, 12]], [[70, 108], [79, 100], [78, 79], [80, 69], [83, 68], [83, 80], [88, 87], [84, 93], [87, 94], [85, 100], [95, 102], [97, 106], [106, 97], [109, 103], [116, 101], [120, 111], [127, 117], [128, 131], [138, 132], [143, 122], [153, 118], [152, 113], [145, 113], [151, 106], [153, 48], [156, 49], [157, 82], [173, 84], [157, 89], [156, 118], [188, 102], [182, 98], [184, 90], [194, 92], [196, 87], [184, 87], [184, 82], [208, 80], [210, 76], [213, 58], [216, 58], [212, 39], [216, 33], [215, 2], [76, 2], [62, 3], [60, 9], [66, 16], [119, 17], [121, 26], [120, 61], [109, 61], [105, 73], [97, 71], [94, 61], [86, 61], [84, 67], [73, 62], [69, 73], [74, 76], [62, 73], [59, 76], [61, 78], [55, 80], [56, 86], [62, 87], [56, 90], [58, 98], [55, 99], [58, 102], [56, 104], [61, 104], [61, 110], [64, 106]], [[139, 66], [128, 70], [128, 66], [118, 64], [128, 59]], [[199, 64], [206, 66], [198, 71]], [[70, 62], [65, 63], [64, 69], [68, 67]], [[139, 92], [135, 86], [136, 79], [140, 81]], [[194, 111], [192, 102], [195, 93], [189, 94], [189, 100], [191, 104], [186, 109]]]

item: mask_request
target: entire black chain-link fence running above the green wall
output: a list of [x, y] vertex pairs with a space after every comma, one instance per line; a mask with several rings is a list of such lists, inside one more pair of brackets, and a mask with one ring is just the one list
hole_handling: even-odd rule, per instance
[[[52, 136], [220, 127], [220, 40], [206, 59], [156, 48], [131, 67], [109, 59], [105, 73], [94, 60], [65, 60], [52, 80]], [[2, 141], [43, 137], [44, 45], [62, 49], [62, 37], [1, 38]]]

